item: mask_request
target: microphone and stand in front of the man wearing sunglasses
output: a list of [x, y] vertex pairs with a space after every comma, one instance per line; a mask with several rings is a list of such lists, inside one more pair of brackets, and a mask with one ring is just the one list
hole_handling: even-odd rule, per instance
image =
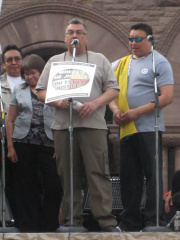
[[158, 117], [159, 117], [159, 92], [157, 87], [157, 77], [159, 73], [156, 72], [155, 68], [155, 59], [154, 59], [154, 48], [153, 48], [153, 36], [148, 39], [151, 42], [151, 51], [152, 51], [152, 65], [154, 73], [154, 93], [155, 100], [151, 102], [155, 103], [155, 161], [156, 161], [156, 226], [148, 226], [143, 228], [143, 232], [171, 232], [171, 230], [165, 226], [159, 226], [159, 128], [158, 128]]

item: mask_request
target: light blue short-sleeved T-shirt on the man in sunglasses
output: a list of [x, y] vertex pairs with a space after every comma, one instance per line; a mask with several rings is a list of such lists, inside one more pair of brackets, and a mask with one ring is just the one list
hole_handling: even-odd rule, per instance
[[[154, 51], [154, 59], [156, 73], [158, 74], [158, 87], [174, 84], [173, 72], [168, 60], [157, 51]], [[144, 58], [132, 58], [128, 78], [127, 100], [130, 109], [137, 108], [155, 100], [152, 53]], [[155, 114], [143, 114], [134, 122], [138, 132], [154, 131]], [[158, 129], [164, 131], [162, 110], [159, 111]]]

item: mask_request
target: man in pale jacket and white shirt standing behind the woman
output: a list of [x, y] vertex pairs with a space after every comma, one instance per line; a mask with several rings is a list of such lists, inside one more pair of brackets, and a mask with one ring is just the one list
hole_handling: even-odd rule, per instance
[[[7, 114], [9, 104], [12, 99], [14, 87], [25, 80], [21, 77], [21, 65], [22, 65], [22, 52], [16, 45], [7, 45], [2, 52], [2, 65], [5, 73], [1, 75], [1, 101], [3, 105], [3, 111]], [[1, 110], [2, 111], [2, 110]], [[6, 115], [5, 115], [6, 119]], [[11, 217], [16, 220], [16, 207], [14, 201], [14, 186], [13, 186], [13, 169], [11, 161], [7, 158], [7, 145], [5, 141], [5, 177], [6, 177], [6, 196], [9, 201], [10, 210], [12, 211]]]

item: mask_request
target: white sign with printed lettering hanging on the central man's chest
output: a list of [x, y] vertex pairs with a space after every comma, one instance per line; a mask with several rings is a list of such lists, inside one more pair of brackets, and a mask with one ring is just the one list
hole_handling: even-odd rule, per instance
[[45, 102], [64, 98], [89, 97], [95, 70], [95, 64], [52, 62]]

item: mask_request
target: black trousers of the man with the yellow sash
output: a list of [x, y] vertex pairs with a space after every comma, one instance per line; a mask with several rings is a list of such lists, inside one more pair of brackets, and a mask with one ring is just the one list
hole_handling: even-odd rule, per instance
[[[161, 146], [162, 134], [159, 133], [160, 219], [163, 207]], [[147, 199], [144, 210], [144, 219], [142, 219], [140, 203], [143, 192], [144, 177], [146, 178]], [[154, 132], [136, 133], [128, 140], [120, 141], [120, 179], [121, 196], [124, 208], [120, 214], [120, 226], [127, 231], [140, 230], [144, 226], [155, 226], [156, 161]], [[163, 220], [160, 224], [164, 224]]]

